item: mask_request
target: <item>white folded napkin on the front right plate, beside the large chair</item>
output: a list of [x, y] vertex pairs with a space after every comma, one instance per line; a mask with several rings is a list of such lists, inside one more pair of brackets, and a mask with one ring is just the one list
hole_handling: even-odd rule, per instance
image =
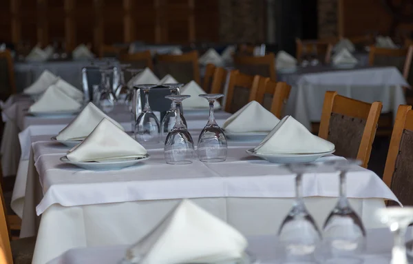
[[254, 151], [259, 154], [305, 154], [329, 152], [335, 145], [311, 134], [293, 116], [286, 116]]

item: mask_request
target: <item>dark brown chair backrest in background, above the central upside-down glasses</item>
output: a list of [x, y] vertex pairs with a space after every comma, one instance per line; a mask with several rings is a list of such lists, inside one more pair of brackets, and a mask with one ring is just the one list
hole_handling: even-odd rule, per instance
[[158, 55], [156, 61], [158, 77], [171, 74], [180, 83], [189, 83], [192, 80], [200, 83], [200, 66], [196, 50], [182, 55]]

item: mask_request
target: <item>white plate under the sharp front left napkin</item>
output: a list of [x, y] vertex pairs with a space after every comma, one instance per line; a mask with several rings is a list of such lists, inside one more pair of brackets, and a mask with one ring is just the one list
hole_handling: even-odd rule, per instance
[[120, 170], [124, 167], [130, 167], [130, 166], [136, 165], [137, 163], [141, 163], [142, 161], [147, 161], [150, 158], [151, 156], [149, 154], [146, 154], [145, 158], [127, 159], [125, 161], [75, 162], [75, 161], [70, 161], [69, 159], [67, 159], [67, 156], [62, 156], [60, 160], [63, 163], [72, 164], [72, 165], [81, 167], [85, 170]]

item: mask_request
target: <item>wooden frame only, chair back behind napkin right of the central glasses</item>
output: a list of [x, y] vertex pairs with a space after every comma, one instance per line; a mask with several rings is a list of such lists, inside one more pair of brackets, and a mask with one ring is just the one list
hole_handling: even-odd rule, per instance
[[260, 83], [260, 75], [251, 76], [240, 73], [239, 70], [232, 70], [229, 74], [228, 93], [226, 94], [225, 111], [231, 112], [231, 102], [234, 97], [235, 86], [251, 87], [251, 92], [248, 97], [248, 103], [255, 100], [258, 85]]

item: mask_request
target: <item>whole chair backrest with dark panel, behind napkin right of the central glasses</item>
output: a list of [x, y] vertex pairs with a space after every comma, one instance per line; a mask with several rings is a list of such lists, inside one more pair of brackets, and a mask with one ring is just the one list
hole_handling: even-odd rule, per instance
[[259, 75], [252, 76], [232, 70], [229, 74], [225, 111], [235, 113], [247, 103], [254, 101], [260, 79]]

